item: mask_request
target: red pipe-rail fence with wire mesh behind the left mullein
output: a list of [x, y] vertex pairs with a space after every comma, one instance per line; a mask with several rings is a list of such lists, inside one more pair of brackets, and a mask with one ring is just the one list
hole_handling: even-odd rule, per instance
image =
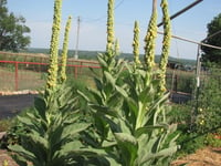
[[[45, 84], [48, 68], [49, 63], [0, 61], [0, 91], [39, 90]], [[66, 74], [88, 81], [93, 79], [90, 69], [98, 72], [99, 66], [67, 64]]]

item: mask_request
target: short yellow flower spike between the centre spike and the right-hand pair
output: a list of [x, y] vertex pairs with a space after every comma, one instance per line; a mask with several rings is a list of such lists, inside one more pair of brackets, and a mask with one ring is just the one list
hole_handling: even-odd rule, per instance
[[135, 65], [138, 66], [140, 64], [139, 61], [139, 24], [135, 21], [134, 28], [134, 42], [133, 42], [133, 53], [134, 53], [134, 62]]

